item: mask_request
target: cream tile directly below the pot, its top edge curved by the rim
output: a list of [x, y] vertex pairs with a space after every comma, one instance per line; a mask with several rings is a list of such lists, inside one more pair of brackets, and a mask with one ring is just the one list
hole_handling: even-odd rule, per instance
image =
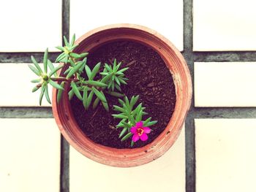
[[185, 192], [184, 129], [162, 157], [132, 168], [105, 166], [70, 148], [69, 188], [78, 191], [176, 191]]

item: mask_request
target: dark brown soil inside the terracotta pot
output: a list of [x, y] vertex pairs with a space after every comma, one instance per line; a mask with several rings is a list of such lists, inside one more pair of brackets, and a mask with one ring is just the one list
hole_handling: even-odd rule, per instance
[[[162, 58], [151, 48], [141, 45], [138, 42], [111, 42], [107, 45], [97, 48], [89, 53], [88, 65], [92, 69], [99, 61], [102, 66], [105, 63], [110, 64], [114, 58], [121, 61], [121, 68], [129, 66], [125, 72], [128, 85], [122, 85], [122, 92], [129, 99], [132, 96], [139, 95], [137, 104], [143, 102], [148, 115], [143, 116], [143, 120], [152, 117], [152, 120], [158, 120], [158, 123], [150, 128], [153, 130], [148, 134], [146, 142], [138, 141], [134, 147], [143, 147], [152, 142], [167, 126], [176, 104], [175, 86], [173, 78], [165, 66]], [[102, 69], [101, 69], [102, 70]], [[94, 142], [116, 148], [130, 148], [131, 139], [121, 142], [118, 134], [121, 128], [116, 129], [120, 119], [114, 119], [111, 114], [113, 104], [118, 104], [118, 99], [114, 96], [105, 94], [110, 112], [106, 112], [102, 105], [95, 110], [92, 107], [88, 111], [84, 110], [83, 104], [75, 96], [71, 100], [72, 111], [78, 125]], [[119, 105], [120, 106], [120, 105]]]

